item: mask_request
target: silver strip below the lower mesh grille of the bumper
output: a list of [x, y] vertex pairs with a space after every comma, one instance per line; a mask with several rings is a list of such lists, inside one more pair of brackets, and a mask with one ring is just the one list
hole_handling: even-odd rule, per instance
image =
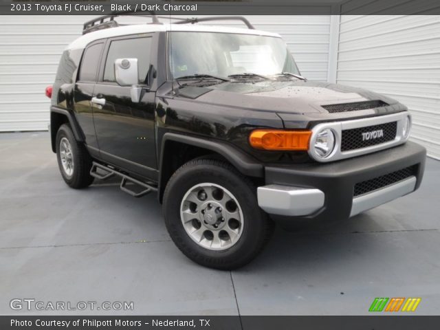
[[409, 194], [415, 190], [416, 181], [417, 179], [415, 177], [408, 177], [408, 179], [396, 182], [395, 184], [353, 198], [350, 217]]

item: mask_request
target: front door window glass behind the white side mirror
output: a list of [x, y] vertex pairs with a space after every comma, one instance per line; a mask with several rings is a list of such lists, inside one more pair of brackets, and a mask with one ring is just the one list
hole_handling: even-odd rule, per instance
[[151, 37], [111, 41], [104, 69], [104, 81], [115, 82], [115, 60], [137, 58], [139, 83], [145, 83], [150, 67]]

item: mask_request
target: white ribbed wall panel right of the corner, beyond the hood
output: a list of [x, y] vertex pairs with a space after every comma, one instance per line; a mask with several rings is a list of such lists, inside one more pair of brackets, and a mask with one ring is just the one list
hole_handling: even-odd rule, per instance
[[338, 83], [406, 104], [411, 139], [440, 159], [439, 16], [342, 16]]

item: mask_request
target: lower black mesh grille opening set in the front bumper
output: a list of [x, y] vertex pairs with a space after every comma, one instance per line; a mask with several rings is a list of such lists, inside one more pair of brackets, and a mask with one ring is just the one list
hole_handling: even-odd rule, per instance
[[403, 179], [415, 175], [417, 170], [417, 165], [409, 166], [407, 168], [402, 168], [401, 170], [396, 170], [393, 173], [382, 175], [382, 177], [375, 177], [374, 179], [366, 180], [355, 184], [355, 191], [353, 196], [364, 195], [367, 192], [372, 192], [374, 190], [389, 186], [390, 184], [395, 184]]

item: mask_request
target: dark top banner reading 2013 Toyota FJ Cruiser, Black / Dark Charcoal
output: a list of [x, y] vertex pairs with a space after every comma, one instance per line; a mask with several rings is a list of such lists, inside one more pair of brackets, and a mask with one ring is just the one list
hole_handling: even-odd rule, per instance
[[2, 15], [438, 15], [439, 0], [0, 0]]

